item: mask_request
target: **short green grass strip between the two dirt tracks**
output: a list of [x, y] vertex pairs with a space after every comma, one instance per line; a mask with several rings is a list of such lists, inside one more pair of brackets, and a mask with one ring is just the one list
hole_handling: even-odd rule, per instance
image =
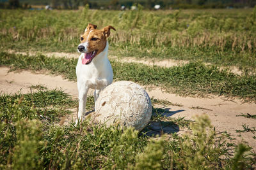
[[[14, 69], [48, 70], [76, 81], [77, 59], [45, 57], [44, 55], [15, 55], [0, 53], [0, 62]], [[207, 94], [240, 97], [246, 101], [256, 99], [256, 78], [253, 75], [239, 76], [216, 66], [191, 62], [184, 66], [158, 67], [143, 64], [121, 63], [111, 60], [114, 80], [130, 80], [141, 85], [156, 85], [183, 96], [206, 96]]]

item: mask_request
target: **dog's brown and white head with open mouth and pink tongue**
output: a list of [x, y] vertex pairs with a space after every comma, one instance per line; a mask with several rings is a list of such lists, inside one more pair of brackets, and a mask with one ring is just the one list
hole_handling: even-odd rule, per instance
[[97, 25], [88, 24], [84, 34], [81, 35], [81, 43], [77, 51], [84, 53], [82, 64], [90, 64], [93, 58], [104, 50], [107, 44], [107, 38], [110, 35], [110, 29], [116, 30], [112, 26], [106, 26], [103, 29], [96, 29]]

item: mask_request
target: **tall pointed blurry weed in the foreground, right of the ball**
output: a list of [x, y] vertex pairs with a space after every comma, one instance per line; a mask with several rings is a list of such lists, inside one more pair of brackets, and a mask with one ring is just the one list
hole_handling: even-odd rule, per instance
[[[221, 154], [218, 145], [215, 144], [212, 126], [206, 115], [196, 118], [196, 122], [190, 125], [193, 134], [184, 136], [184, 142], [180, 143], [180, 152], [172, 153], [173, 162], [178, 169], [205, 169], [214, 168], [217, 165], [211, 162], [220, 161], [214, 155]], [[189, 156], [190, 155], [190, 156]], [[193, 155], [193, 157], [191, 157]], [[220, 155], [219, 155], [220, 156]]]

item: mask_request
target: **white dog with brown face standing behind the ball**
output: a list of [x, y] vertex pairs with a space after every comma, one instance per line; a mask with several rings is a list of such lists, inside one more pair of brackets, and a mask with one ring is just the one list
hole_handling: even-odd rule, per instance
[[76, 124], [83, 122], [87, 93], [89, 89], [95, 89], [94, 101], [97, 101], [99, 92], [113, 81], [113, 70], [108, 60], [108, 41], [112, 26], [97, 29], [97, 25], [88, 24], [84, 34], [81, 35], [81, 43], [77, 52], [81, 53], [76, 66], [77, 89], [79, 107]]

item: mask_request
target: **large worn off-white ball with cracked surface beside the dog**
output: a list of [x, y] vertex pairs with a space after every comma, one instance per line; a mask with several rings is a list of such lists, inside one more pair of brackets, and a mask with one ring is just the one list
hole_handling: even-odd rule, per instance
[[96, 122], [124, 125], [141, 131], [152, 116], [152, 104], [146, 90], [132, 81], [117, 81], [99, 94], [95, 103]]

